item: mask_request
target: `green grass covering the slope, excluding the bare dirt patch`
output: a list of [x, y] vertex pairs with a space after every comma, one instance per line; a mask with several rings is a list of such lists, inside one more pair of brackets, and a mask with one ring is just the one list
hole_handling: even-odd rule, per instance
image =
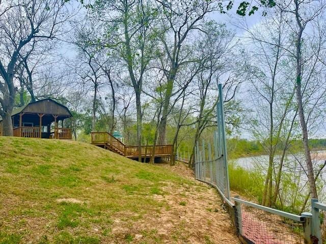
[[[87, 143], [0, 137], [0, 244], [133, 242], [114, 220], [129, 228], [168, 209], [155, 196], [171, 184], [194, 182]], [[161, 242], [155, 229], [143, 236]]]

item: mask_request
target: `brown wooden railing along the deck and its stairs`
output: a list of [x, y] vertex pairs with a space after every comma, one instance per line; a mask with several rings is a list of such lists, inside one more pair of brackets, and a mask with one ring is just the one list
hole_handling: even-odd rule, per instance
[[[138, 146], [127, 146], [107, 132], [92, 132], [92, 144], [111, 150], [130, 159], [137, 159]], [[153, 154], [153, 146], [142, 146], [142, 158], [149, 158]], [[155, 145], [155, 158], [171, 157], [172, 145]]]

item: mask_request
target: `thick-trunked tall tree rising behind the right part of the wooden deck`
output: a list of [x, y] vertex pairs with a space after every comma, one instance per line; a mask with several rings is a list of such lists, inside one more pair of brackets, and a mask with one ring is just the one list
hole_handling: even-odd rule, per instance
[[159, 4], [164, 14], [160, 16], [157, 35], [161, 43], [161, 69], [165, 71], [167, 86], [163, 98], [164, 106], [159, 124], [158, 144], [166, 144], [167, 119], [171, 111], [169, 107], [174, 81], [183, 65], [196, 61], [192, 55], [189, 55], [193, 50], [192, 38], [196, 32], [202, 30], [204, 17], [217, 10], [218, 7], [215, 1], [206, 0], [164, 1]]

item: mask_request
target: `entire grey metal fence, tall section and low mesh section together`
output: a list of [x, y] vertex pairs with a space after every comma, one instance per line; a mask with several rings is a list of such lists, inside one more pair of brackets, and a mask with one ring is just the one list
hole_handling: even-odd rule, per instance
[[[243, 243], [301, 244], [318, 243], [321, 240], [321, 223], [325, 219], [326, 204], [312, 199], [312, 213], [294, 215], [265, 207], [239, 197], [231, 197], [222, 84], [219, 84], [219, 101], [216, 104], [218, 126], [214, 133], [214, 148], [202, 141], [196, 144], [195, 177], [218, 190]], [[321, 210], [321, 211], [320, 211]], [[326, 223], [324, 223], [326, 226]], [[324, 242], [326, 243], [326, 242]]]

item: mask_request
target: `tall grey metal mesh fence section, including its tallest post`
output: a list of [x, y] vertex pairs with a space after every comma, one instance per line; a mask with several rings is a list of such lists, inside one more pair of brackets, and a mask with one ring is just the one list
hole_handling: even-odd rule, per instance
[[199, 142], [197, 142], [195, 150], [195, 175], [197, 179], [207, 181], [216, 186], [225, 198], [230, 199], [224, 107], [222, 98], [222, 84], [219, 84], [219, 100], [216, 104], [218, 126], [213, 137], [214, 150], [212, 151], [210, 143], [205, 143], [204, 140], [202, 141], [201, 147], [199, 146]]

